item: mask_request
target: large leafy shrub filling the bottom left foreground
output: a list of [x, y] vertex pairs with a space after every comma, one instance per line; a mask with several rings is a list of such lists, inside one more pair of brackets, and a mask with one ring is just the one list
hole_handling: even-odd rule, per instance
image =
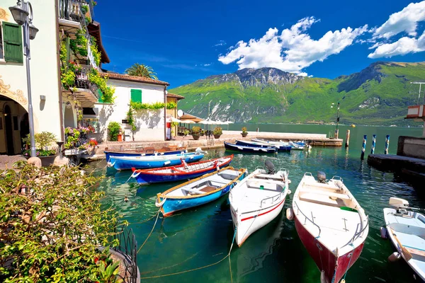
[[[98, 178], [78, 167], [0, 171], [0, 282], [94, 282], [116, 212], [101, 210]], [[106, 254], [107, 253], [107, 254]], [[100, 280], [98, 280], [100, 281]], [[104, 282], [104, 281], [101, 281]], [[108, 282], [115, 282], [114, 280]]]

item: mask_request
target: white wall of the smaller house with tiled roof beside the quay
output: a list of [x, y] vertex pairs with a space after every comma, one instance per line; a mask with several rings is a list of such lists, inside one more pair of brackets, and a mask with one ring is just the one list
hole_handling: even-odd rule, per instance
[[[99, 109], [100, 133], [96, 136], [99, 140], [107, 140], [109, 122], [118, 122], [123, 130], [130, 132], [130, 125], [121, 122], [127, 119], [131, 89], [142, 90], [142, 103], [164, 103], [164, 86], [114, 79], [109, 79], [108, 85], [115, 87], [115, 102], [113, 104], [95, 104], [95, 108]], [[132, 141], [133, 137], [135, 141], [164, 140], [164, 109], [140, 110], [135, 112], [135, 118], [137, 130], [134, 135], [130, 136], [130, 140], [127, 137], [126, 141]]]

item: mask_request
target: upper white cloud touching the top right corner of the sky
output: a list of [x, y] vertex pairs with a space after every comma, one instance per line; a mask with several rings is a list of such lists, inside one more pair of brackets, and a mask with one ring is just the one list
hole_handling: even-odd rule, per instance
[[417, 23], [425, 21], [425, 1], [411, 3], [402, 11], [393, 13], [388, 21], [373, 33], [374, 37], [390, 38], [402, 32], [410, 36], [416, 36]]

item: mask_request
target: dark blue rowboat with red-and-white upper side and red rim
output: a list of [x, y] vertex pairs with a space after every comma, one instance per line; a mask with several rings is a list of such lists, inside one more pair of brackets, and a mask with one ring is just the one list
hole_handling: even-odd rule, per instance
[[137, 183], [140, 185], [189, 180], [198, 178], [207, 173], [211, 173], [217, 170], [217, 168], [224, 168], [229, 166], [232, 160], [233, 154], [190, 164], [187, 164], [183, 161], [183, 163], [179, 166], [133, 170], [132, 177], [135, 178]]

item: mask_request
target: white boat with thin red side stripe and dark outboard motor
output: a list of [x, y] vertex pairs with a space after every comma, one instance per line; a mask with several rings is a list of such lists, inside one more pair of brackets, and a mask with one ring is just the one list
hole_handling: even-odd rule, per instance
[[271, 161], [266, 161], [266, 167], [268, 171], [256, 169], [230, 190], [230, 211], [239, 247], [280, 214], [289, 193], [288, 171], [275, 172]]

